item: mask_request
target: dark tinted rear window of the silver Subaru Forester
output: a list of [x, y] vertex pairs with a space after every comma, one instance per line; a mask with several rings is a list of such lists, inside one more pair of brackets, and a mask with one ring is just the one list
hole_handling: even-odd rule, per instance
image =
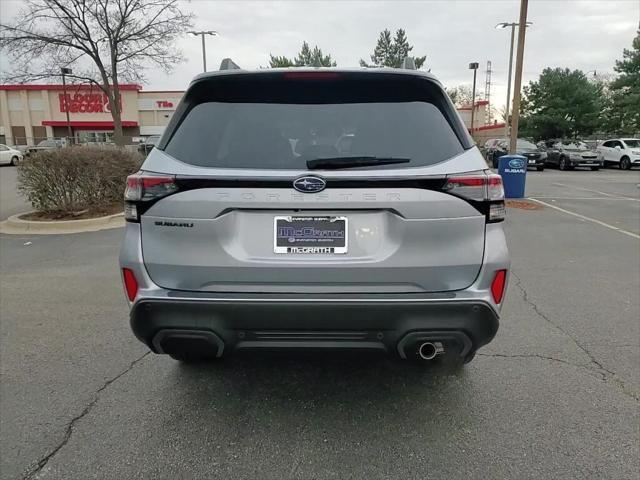
[[417, 88], [424, 85], [399, 92], [397, 81], [386, 83], [264, 82], [245, 94], [235, 85], [232, 95], [222, 86], [216, 94], [214, 84], [185, 100], [164, 150], [192, 165], [252, 169], [305, 169], [308, 160], [363, 156], [409, 159], [375, 168], [418, 167], [464, 150], [443, 96]]

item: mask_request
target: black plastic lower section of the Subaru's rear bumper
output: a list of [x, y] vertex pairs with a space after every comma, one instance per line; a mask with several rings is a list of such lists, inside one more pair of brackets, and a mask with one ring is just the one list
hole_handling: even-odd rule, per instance
[[172, 353], [174, 337], [190, 336], [208, 341], [219, 356], [238, 350], [349, 349], [406, 358], [427, 338], [455, 344], [453, 350], [464, 356], [498, 330], [498, 315], [484, 302], [409, 297], [141, 299], [130, 320], [136, 337], [156, 353]]

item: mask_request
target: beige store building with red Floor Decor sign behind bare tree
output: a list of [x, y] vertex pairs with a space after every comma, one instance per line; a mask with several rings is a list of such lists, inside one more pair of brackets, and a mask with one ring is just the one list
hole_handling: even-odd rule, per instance
[[[120, 85], [122, 127], [127, 143], [162, 133], [183, 91], [143, 91]], [[113, 119], [106, 96], [95, 85], [0, 85], [0, 143], [35, 145], [68, 136], [76, 142], [106, 142]]]

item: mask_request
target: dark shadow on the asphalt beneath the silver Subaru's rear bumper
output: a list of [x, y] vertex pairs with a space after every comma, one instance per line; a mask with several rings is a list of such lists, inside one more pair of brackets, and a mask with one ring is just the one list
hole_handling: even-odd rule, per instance
[[[247, 415], [258, 423], [277, 418], [285, 424], [308, 423], [310, 415], [334, 429], [340, 428], [336, 422], [366, 429], [368, 422], [389, 416], [425, 415], [420, 422], [436, 423], [442, 415], [462, 420], [475, 388], [468, 369], [344, 354], [247, 355], [178, 364], [169, 376], [173, 395], [179, 397], [174, 401], [205, 418], [215, 417], [230, 430]], [[175, 412], [178, 417], [180, 411]]]

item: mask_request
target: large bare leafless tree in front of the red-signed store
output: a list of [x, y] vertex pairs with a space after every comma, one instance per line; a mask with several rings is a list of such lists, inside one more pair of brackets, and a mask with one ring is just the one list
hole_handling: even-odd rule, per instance
[[119, 82], [144, 82], [149, 67], [170, 72], [183, 61], [176, 37], [192, 26], [178, 0], [24, 0], [12, 22], [0, 23], [0, 50], [11, 60], [9, 82], [69, 75], [99, 88], [124, 143]]

